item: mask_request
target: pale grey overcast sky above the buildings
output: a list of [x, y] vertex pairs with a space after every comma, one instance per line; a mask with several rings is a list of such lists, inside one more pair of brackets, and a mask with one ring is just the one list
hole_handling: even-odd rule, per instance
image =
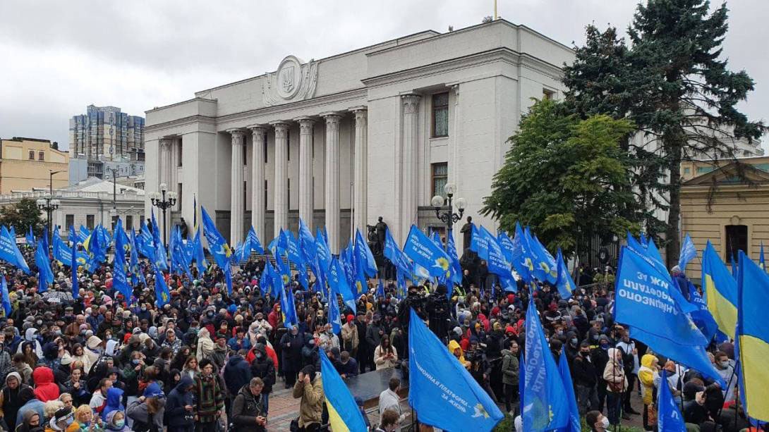
[[[627, 28], [635, 4], [498, 0], [501, 17], [570, 46], [584, 41], [590, 22]], [[741, 108], [769, 118], [769, 2], [728, 5], [724, 55], [756, 81]], [[324, 58], [427, 29], [446, 32], [492, 11], [493, 0], [2, 0], [0, 137], [48, 138], [66, 148], [69, 118], [89, 104], [144, 115], [195, 91], [275, 71], [286, 55]]]

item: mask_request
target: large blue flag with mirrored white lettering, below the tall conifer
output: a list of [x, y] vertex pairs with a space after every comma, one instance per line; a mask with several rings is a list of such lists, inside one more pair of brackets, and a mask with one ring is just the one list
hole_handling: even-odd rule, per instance
[[672, 287], [670, 275], [647, 259], [630, 248], [621, 249], [615, 321], [630, 326], [630, 336], [655, 353], [694, 368], [726, 387], [705, 354], [709, 341], [674, 301], [672, 294], [677, 289]]

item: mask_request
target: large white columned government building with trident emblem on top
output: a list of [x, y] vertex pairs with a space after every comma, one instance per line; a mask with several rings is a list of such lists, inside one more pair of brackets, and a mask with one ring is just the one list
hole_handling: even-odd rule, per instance
[[494, 232], [478, 211], [506, 140], [532, 98], [561, 97], [573, 58], [501, 19], [320, 60], [290, 55], [275, 72], [147, 111], [145, 190], [175, 191], [171, 220], [190, 228], [195, 196], [231, 244], [253, 224], [266, 245], [301, 217], [325, 225], [338, 253], [378, 216], [401, 244], [411, 224], [443, 228], [430, 203], [448, 181], [464, 214]]

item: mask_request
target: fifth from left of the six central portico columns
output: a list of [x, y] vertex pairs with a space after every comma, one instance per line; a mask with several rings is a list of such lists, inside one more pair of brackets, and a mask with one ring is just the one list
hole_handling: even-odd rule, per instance
[[339, 122], [337, 112], [321, 114], [326, 120], [325, 212], [328, 248], [339, 253]]

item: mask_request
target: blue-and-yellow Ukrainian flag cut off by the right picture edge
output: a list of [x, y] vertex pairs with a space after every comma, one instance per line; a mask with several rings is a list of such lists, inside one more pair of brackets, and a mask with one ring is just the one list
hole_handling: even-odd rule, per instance
[[769, 275], [740, 251], [737, 274], [737, 353], [741, 397], [748, 416], [769, 421]]

